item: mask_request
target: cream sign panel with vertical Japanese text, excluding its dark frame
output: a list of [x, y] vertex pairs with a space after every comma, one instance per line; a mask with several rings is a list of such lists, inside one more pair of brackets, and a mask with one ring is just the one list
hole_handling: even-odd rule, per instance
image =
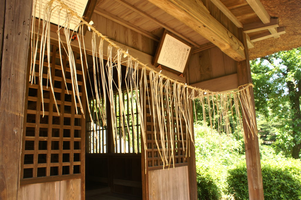
[[191, 47], [166, 34], [157, 63], [184, 72]]

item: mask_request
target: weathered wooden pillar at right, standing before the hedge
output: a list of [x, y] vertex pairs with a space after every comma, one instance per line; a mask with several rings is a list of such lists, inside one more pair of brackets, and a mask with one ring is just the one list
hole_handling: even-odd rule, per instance
[[[252, 83], [249, 52], [247, 49], [246, 35], [240, 29], [241, 38], [243, 39], [243, 44], [246, 54], [246, 60], [237, 62], [237, 76], [238, 84], [244, 85]], [[251, 102], [253, 107], [253, 112], [255, 113], [255, 102], [253, 88], [250, 89]], [[242, 108], [245, 109], [245, 108]], [[258, 136], [252, 133], [247, 123], [250, 121], [249, 116], [243, 118], [243, 126], [246, 135], [246, 162], [247, 162], [247, 177], [248, 177], [248, 189], [249, 189], [249, 199], [250, 200], [263, 200], [263, 187], [262, 187], [262, 174], [260, 165], [260, 155], [259, 155], [259, 143]], [[256, 119], [255, 119], [256, 120]], [[254, 136], [254, 137], [253, 137]]]

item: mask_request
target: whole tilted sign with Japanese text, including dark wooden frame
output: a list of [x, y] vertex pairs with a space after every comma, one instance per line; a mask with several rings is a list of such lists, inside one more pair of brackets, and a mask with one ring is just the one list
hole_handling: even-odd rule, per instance
[[165, 29], [160, 39], [153, 65], [159, 64], [162, 69], [164, 68], [176, 74], [184, 74], [191, 56], [192, 47], [193, 45]]

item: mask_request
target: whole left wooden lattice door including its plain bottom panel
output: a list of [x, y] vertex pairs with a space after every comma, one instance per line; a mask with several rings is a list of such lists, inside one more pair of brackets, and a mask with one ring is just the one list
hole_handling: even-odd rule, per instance
[[[58, 47], [51, 45], [50, 50], [51, 80], [59, 113], [50, 88], [45, 51], [42, 93], [39, 86], [38, 64], [34, 66], [33, 84], [29, 81], [26, 84], [20, 195], [28, 196], [28, 192], [30, 193], [33, 187], [35, 192], [29, 194], [28, 199], [36, 199], [36, 195], [41, 199], [53, 199], [53, 196], [47, 196], [47, 192], [43, 190], [52, 191], [52, 195], [58, 196], [58, 199], [59, 197], [84, 199], [85, 118], [81, 113], [79, 99], [73, 98], [72, 73], [70, 73], [67, 54], [62, 53], [62, 69]], [[79, 56], [77, 52], [73, 54], [75, 59]], [[38, 55], [35, 63], [39, 63], [39, 58]], [[79, 96], [85, 109], [84, 74], [80, 60], [76, 60], [76, 63]], [[28, 66], [27, 80], [29, 80], [29, 68], [30, 66]], [[67, 88], [63, 72], [66, 76]]]

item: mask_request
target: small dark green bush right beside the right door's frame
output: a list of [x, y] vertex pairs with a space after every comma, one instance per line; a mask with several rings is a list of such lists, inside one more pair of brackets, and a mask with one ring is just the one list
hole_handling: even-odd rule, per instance
[[221, 191], [208, 173], [208, 168], [197, 172], [197, 198], [198, 200], [219, 200]]

